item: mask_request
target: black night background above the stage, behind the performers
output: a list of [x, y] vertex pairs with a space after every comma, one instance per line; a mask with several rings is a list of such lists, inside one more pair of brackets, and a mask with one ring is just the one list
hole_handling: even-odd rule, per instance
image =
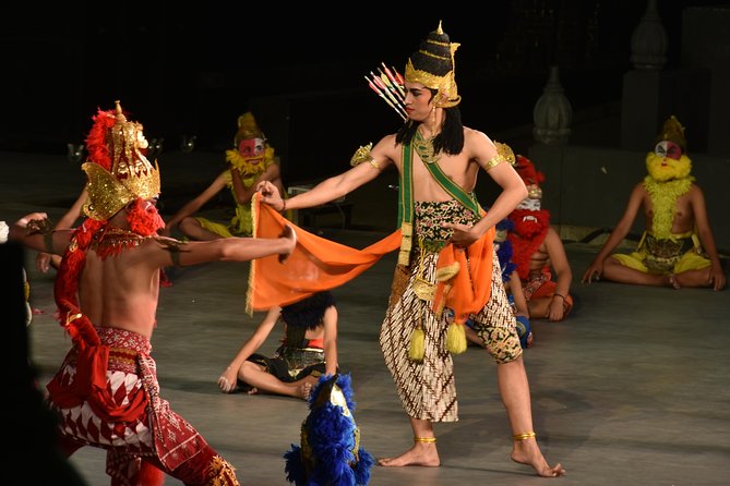
[[[669, 37], [666, 69], [679, 62], [682, 10], [727, 1], [657, 2]], [[166, 150], [186, 134], [196, 135], [201, 150], [228, 148], [240, 113], [280, 108], [282, 99], [295, 145], [321, 151], [352, 133], [359, 143], [378, 139], [399, 119], [363, 76], [382, 61], [403, 72], [439, 20], [462, 44], [456, 76], [469, 126], [490, 134], [531, 123], [551, 64], [561, 69], [574, 111], [621, 98], [646, 1], [468, 4], [447, 2], [440, 11], [370, 2], [14, 5], [0, 29], [0, 149], [64, 154], [67, 143], [83, 141], [97, 107], [111, 108], [115, 99], [148, 138], [164, 137]]]

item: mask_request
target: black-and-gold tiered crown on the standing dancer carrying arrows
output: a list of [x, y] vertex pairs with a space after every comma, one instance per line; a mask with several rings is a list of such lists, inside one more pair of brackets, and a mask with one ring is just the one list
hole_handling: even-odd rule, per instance
[[406, 81], [436, 89], [436, 106], [455, 107], [462, 101], [456, 87], [454, 52], [459, 44], [452, 42], [441, 28], [431, 32], [406, 63]]

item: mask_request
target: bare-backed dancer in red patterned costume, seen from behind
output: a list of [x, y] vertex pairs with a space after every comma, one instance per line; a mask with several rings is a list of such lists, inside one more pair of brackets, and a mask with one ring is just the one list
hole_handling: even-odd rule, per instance
[[45, 214], [20, 219], [11, 238], [63, 255], [55, 297], [73, 340], [48, 384], [61, 448], [107, 449], [112, 485], [160, 485], [163, 472], [186, 485], [238, 485], [234, 467], [159, 396], [149, 339], [156, 325], [159, 269], [206, 262], [285, 258], [282, 238], [230, 238], [183, 244], [157, 236], [159, 172], [145, 157], [142, 125], [116, 110], [94, 117], [87, 137], [88, 217], [76, 230], [48, 231]]

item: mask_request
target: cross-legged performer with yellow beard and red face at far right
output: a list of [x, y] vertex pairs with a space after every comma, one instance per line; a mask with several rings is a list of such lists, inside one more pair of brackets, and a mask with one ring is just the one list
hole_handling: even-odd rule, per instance
[[[727, 283], [707, 218], [705, 196], [690, 175], [684, 126], [673, 116], [663, 124], [654, 151], [646, 155], [649, 174], [634, 186], [621, 220], [583, 276], [637, 285], [711, 287]], [[626, 238], [639, 208], [647, 230], [631, 254], [611, 254]], [[701, 245], [702, 242], [702, 245]], [[703, 250], [704, 246], [704, 250]]]

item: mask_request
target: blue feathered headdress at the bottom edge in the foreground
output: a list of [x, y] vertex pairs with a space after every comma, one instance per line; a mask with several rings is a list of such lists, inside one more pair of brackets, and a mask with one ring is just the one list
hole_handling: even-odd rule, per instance
[[364, 486], [374, 459], [360, 447], [350, 376], [323, 375], [309, 397], [310, 413], [301, 426], [301, 447], [284, 458], [296, 486]]

